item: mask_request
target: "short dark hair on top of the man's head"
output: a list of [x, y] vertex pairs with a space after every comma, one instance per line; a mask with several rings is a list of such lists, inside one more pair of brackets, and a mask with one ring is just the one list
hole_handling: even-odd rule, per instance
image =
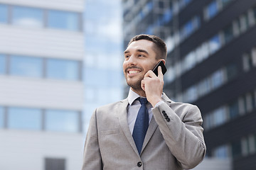
[[[154, 42], [154, 45], [156, 45], [157, 49], [161, 53], [160, 55], [156, 55], [157, 59], [164, 59], [166, 60], [166, 55], [167, 55], [167, 49], [166, 49], [166, 44], [164, 40], [161, 40], [161, 38], [157, 37], [156, 35], [147, 35], [147, 34], [140, 34], [134, 36], [128, 43], [128, 46], [137, 40], [149, 40], [151, 42]], [[156, 53], [158, 54], [158, 52]]]

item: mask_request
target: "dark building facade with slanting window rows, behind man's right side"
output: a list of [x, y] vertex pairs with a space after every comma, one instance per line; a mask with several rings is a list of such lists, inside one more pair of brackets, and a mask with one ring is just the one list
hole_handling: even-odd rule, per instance
[[140, 33], [165, 40], [164, 91], [201, 109], [207, 157], [231, 159], [230, 169], [255, 169], [256, 2], [122, 3], [124, 44]]

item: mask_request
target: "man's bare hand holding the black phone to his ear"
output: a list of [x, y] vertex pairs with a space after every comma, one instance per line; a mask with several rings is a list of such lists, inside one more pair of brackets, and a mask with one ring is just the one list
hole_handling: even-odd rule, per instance
[[156, 103], [162, 100], [161, 94], [164, 88], [164, 76], [161, 67], [158, 67], [158, 77], [151, 70], [146, 72], [141, 86], [146, 93], [146, 99], [153, 107], [156, 106]]

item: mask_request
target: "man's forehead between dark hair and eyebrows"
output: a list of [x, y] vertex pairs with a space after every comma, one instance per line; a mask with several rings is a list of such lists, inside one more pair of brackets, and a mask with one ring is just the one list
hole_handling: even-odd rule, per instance
[[132, 42], [124, 52], [137, 52], [139, 50], [144, 50], [149, 54], [155, 54], [155, 45], [154, 42], [149, 40], [137, 40]]

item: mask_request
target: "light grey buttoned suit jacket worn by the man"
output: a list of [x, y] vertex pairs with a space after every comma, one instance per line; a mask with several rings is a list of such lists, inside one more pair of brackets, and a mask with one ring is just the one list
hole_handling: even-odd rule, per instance
[[82, 170], [175, 170], [198, 165], [206, 153], [198, 107], [171, 101], [165, 94], [163, 99], [152, 109], [141, 154], [128, 128], [127, 99], [97, 108], [85, 140]]

